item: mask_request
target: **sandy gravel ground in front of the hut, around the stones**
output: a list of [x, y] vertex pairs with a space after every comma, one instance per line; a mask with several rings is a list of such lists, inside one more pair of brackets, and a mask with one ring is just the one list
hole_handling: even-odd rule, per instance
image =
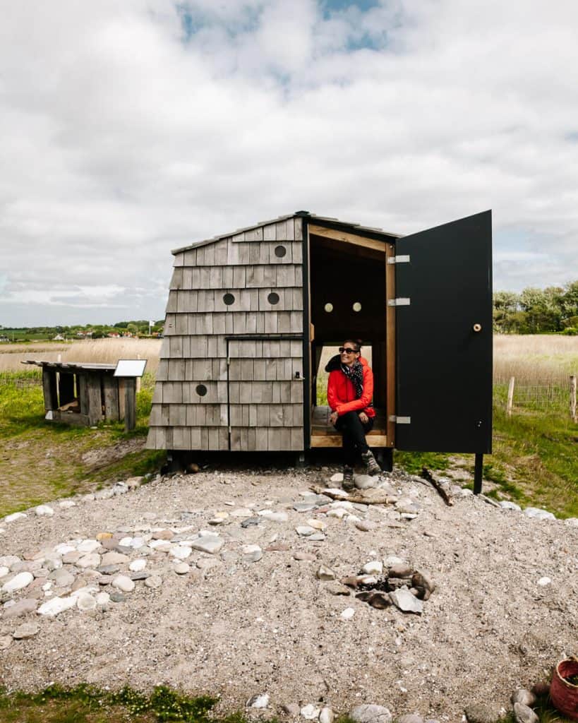
[[[414, 519], [400, 520], [392, 504], [350, 510], [376, 523], [362, 531], [348, 518], [293, 509], [293, 502], [307, 499], [301, 493], [311, 484], [338, 487], [329, 482], [335, 471], [165, 476], [111, 499], [79, 498], [68, 509], [52, 502], [52, 516], [30, 511], [27, 518], [0, 521], [0, 557], [29, 561], [17, 569], [38, 552], [102, 532], [146, 538], [170, 529], [190, 539], [211, 529], [224, 540], [216, 555], [193, 551], [183, 575], [174, 572], [166, 552], [135, 549], [130, 559], [144, 557], [147, 572], [162, 578], [160, 586], [137, 581], [124, 602], [89, 612], [6, 619], [6, 602], [30, 598], [30, 591], [2, 593], [0, 685], [30, 690], [51, 681], [88, 681], [148, 689], [165, 683], [218, 695], [227, 711], [268, 693], [269, 708], [261, 711], [268, 717], [280, 714], [282, 704], [324, 701], [338, 712], [379, 703], [394, 715], [460, 721], [473, 703], [509, 708], [513, 690], [544, 680], [558, 659], [577, 651], [577, 527], [498, 510], [472, 496], [456, 497], [449, 507], [433, 488], [400, 471], [384, 479], [399, 500], [418, 503]], [[231, 515], [239, 508], [251, 515], [283, 512], [288, 520], [261, 517], [243, 528], [245, 518]], [[230, 516], [210, 527], [217, 512]], [[327, 524], [324, 540], [296, 533], [311, 519]], [[260, 560], [243, 558], [249, 544], [262, 548]], [[267, 549], [271, 545], [280, 549]], [[303, 552], [314, 559], [296, 560]], [[391, 555], [434, 578], [436, 590], [423, 603], [423, 615], [374, 609], [353, 595], [334, 594], [336, 581], [316, 578], [320, 564], [340, 579]], [[90, 573], [65, 567], [77, 580], [94, 583]], [[128, 561], [120, 567], [127, 572]], [[538, 584], [543, 578], [550, 582]], [[111, 586], [100, 589], [110, 592]], [[36, 591], [45, 602], [70, 588], [49, 596]], [[344, 619], [348, 607], [355, 612]], [[38, 633], [12, 639], [22, 623], [38, 625]]]

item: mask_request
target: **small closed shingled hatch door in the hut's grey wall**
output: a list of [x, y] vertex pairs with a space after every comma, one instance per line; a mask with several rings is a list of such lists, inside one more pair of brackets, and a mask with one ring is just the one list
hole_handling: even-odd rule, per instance
[[303, 339], [228, 340], [230, 449], [303, 450]]

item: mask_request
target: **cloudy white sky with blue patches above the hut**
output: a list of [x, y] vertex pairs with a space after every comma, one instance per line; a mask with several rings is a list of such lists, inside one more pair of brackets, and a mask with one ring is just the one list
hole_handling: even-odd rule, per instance
[[172, 248], [299, 209], [578, 278], [576, 0], [0, 9], [0, 324], [161, 318]]

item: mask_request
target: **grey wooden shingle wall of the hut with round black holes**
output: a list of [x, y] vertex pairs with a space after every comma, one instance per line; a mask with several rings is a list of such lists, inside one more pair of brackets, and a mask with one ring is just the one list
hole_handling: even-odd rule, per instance
[[291, 217], [175, 253], [147, 446], [303, 449], [303, 342], [243, 339], [303, 333], [302, 239]]

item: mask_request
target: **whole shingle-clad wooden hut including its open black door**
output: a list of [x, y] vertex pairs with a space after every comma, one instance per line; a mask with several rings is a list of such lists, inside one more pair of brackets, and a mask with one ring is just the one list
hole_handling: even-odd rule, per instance
[[391, 450], [491, 451], [491, 212], [412, 236], [298, 211], [173, 251], [147, 446], [340, 445], [317, 405], [322, 349], [371, 347]]

